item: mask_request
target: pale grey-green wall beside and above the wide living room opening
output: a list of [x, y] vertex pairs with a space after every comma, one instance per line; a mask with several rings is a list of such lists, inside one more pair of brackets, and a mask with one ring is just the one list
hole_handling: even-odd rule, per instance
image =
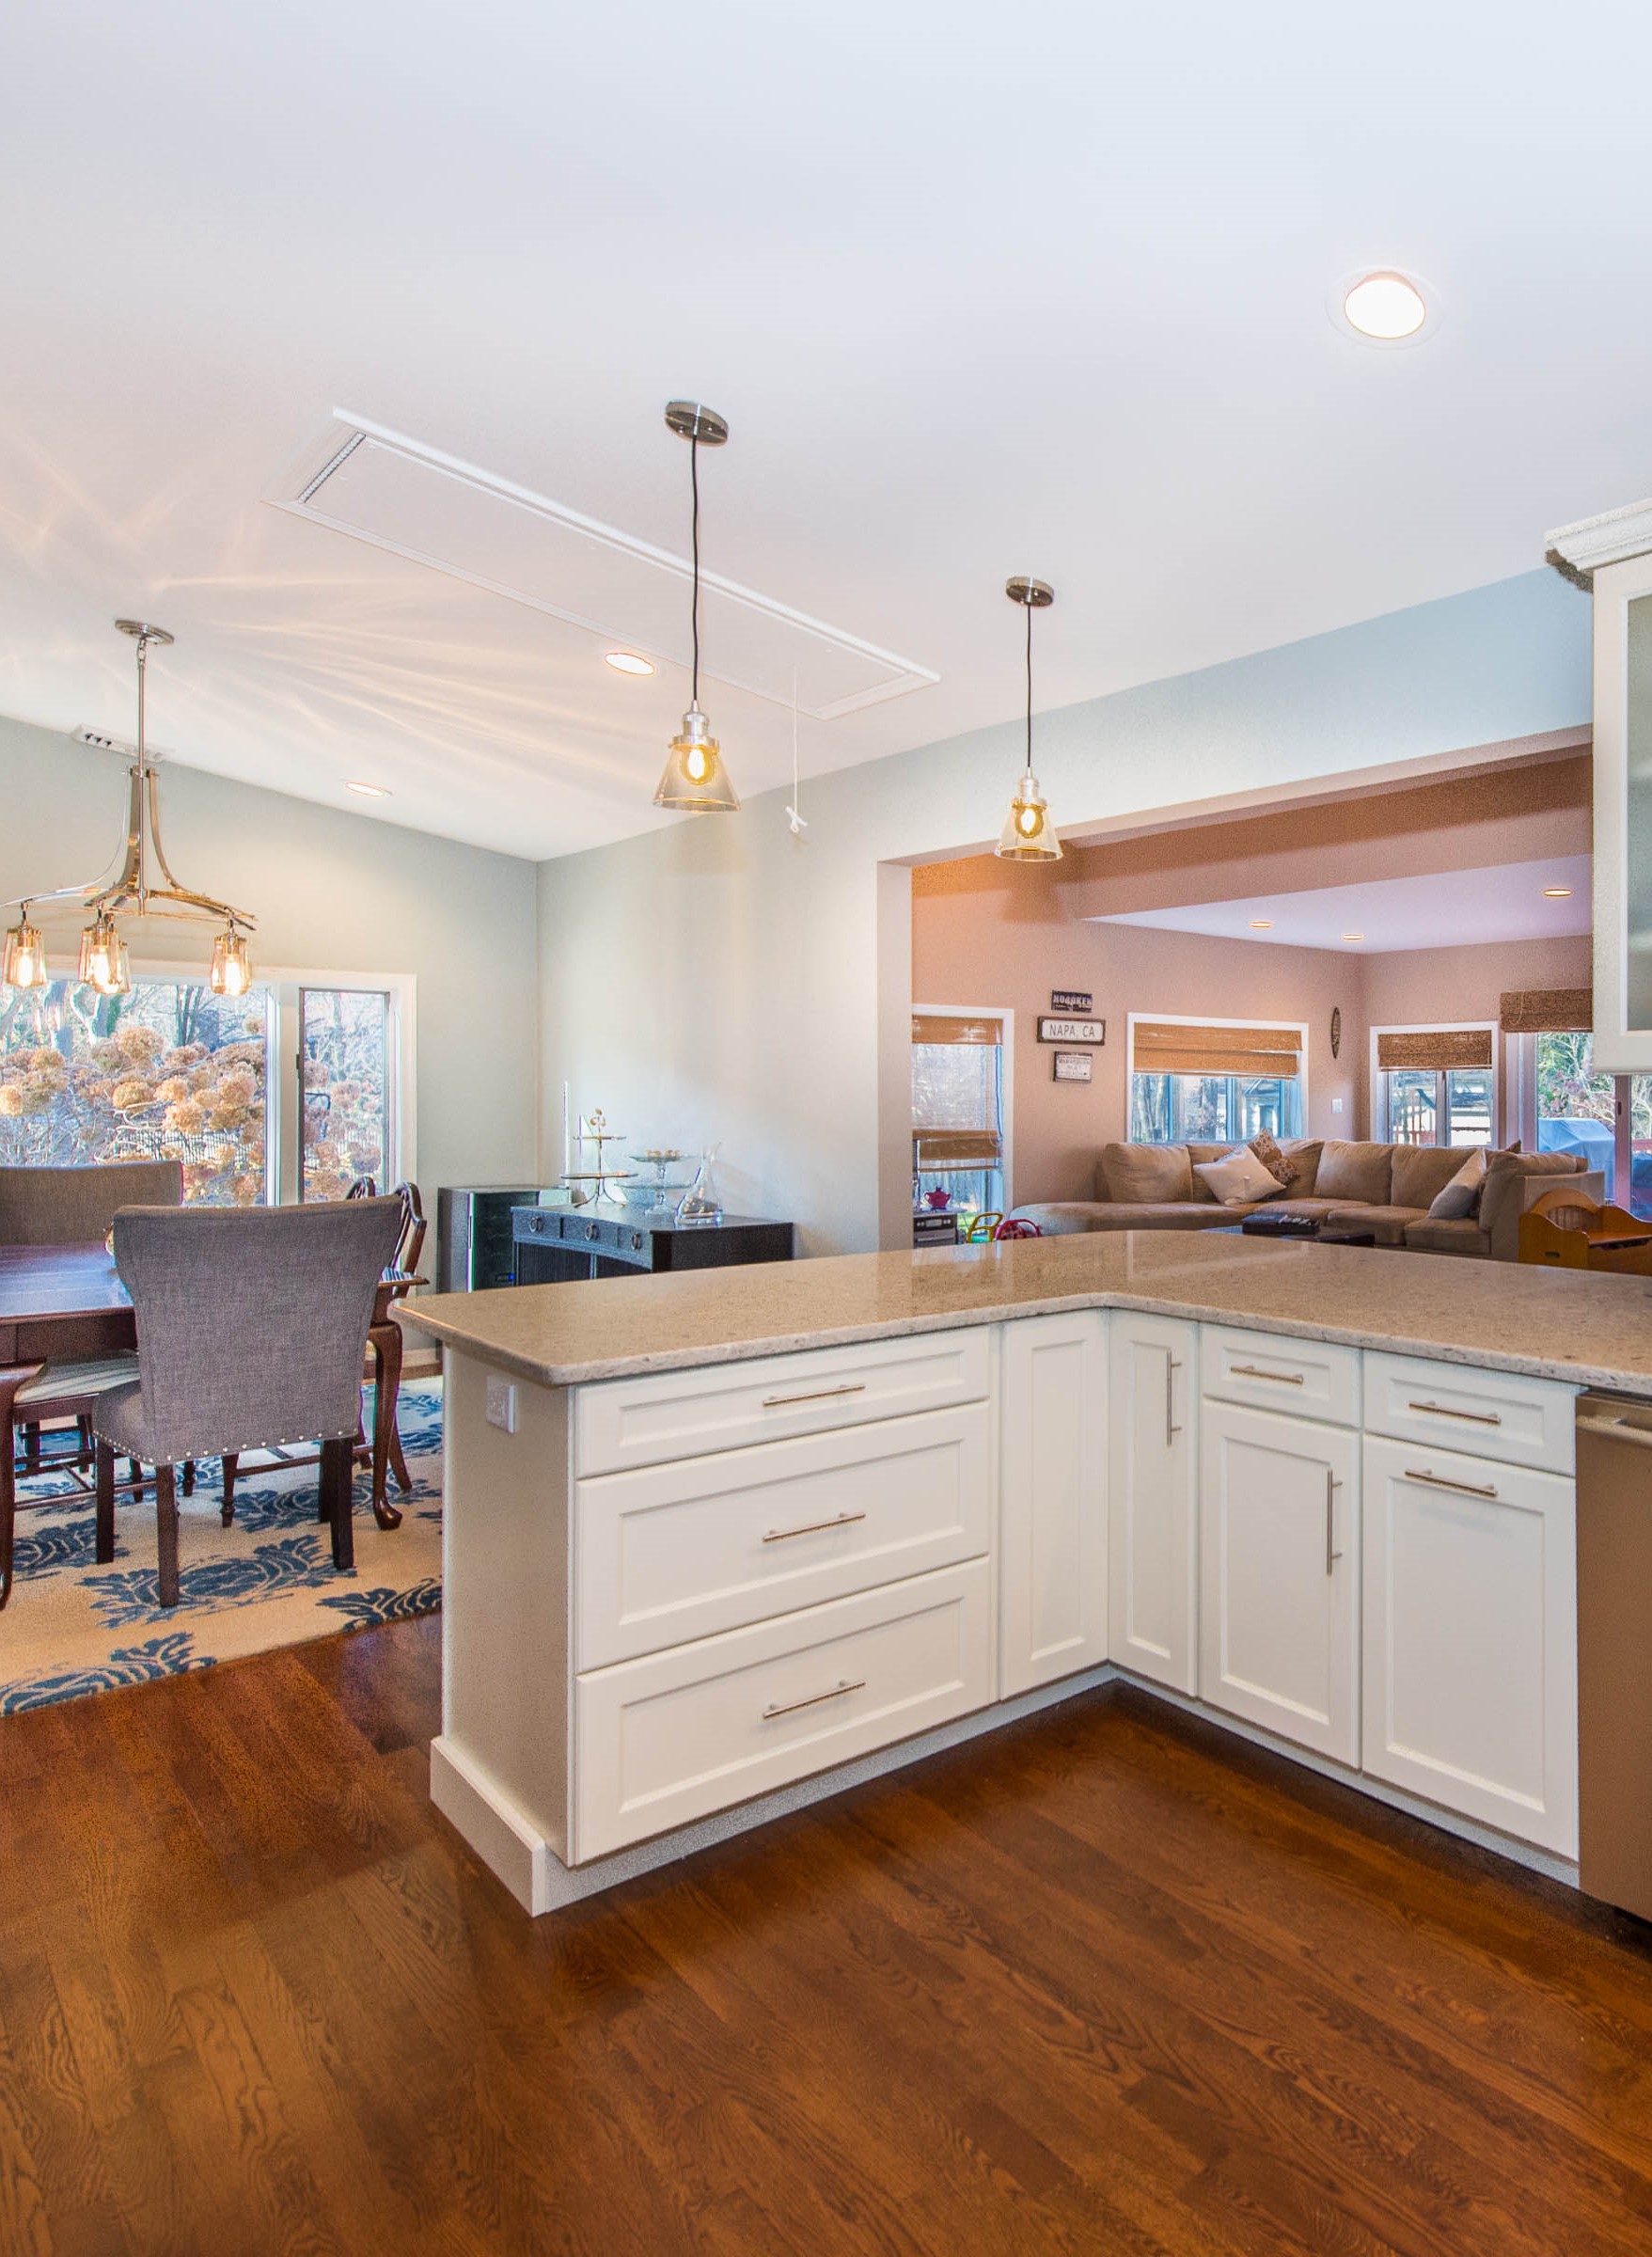
[[[1535, 571], [1043, 713], [1038, 774], [1058, 822], [1097, 824], [1587, 720], [1589, 600]], [[808, 783], [806, 840], [765, 792], [542, 864], [546, 1169], [566, 1077], [632, 1138], [720, 1138], [729, 1205], [797, 1219], [806, 1250], [876, 1246], [880, 1194], [894, 1244], [912, 989], [891, 864], [993, 840], [1016, 770], [1018, 729], [995, 727]]]

